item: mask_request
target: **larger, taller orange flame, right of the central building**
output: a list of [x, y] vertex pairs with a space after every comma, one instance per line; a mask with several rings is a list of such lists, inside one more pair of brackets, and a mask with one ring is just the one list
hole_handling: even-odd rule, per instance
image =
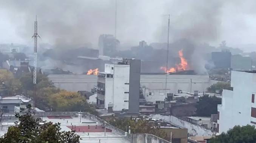
[[171, 67], [167, 69], [166, 67], [161, 66], [160, 69], [163, 69], [166, 73], [185, 71], [189, 69], [187, 60], [183, 57], [183, 50], [179, 50], [180, 63], [176, 64], [176, 67]]

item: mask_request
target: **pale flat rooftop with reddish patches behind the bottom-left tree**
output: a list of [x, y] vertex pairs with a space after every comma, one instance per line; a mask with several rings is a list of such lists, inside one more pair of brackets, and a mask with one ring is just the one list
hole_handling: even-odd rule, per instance
[[[4, 135], [8, 127], [17, 121], [14, 114], [4, 114], [4, 116], [0, 122], [0, 136]], [[87, 117], [52, 115], [41, 116], [41, 118], [46, 122], [60, 123], [61, 131], [76, 130], [76, 134], [82, 138], [80, 143], [99, 143], [99, 140], [101, 143], [130, 143], [124, 135], [120, 135], [112, 129], [106, 128], [105, 133], [103, 123], [95, 122]]]

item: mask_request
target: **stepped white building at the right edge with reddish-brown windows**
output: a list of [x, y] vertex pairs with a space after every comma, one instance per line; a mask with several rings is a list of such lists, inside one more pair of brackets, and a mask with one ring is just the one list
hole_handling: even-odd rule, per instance
[[217, 130], [227, 132], [235, 125], [256, 125], [256, 71], [232, 71], [233, 91], [223, 90], [218, 105]]

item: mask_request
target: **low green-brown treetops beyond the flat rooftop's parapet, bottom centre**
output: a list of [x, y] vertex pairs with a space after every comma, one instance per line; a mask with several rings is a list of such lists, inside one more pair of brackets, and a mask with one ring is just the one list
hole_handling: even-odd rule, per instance
[[124, 131], [127, 131], [130, 126], [132, 134], [153, 134], [160, 138], [170, 139], [167, 137], [167, 133], [159, 128], [157, 123], [149, 123], [148, 120], [112, 119], [109, 123]]

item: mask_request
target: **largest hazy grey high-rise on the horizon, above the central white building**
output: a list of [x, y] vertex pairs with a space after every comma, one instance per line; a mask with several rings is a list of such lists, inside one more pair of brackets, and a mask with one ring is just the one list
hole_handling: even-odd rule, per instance
[[112, 56], [119, 45], [119, 41], [115, 39], [114, 35], [103, 34], [99, 36], [98, 44], [100, 56]]

